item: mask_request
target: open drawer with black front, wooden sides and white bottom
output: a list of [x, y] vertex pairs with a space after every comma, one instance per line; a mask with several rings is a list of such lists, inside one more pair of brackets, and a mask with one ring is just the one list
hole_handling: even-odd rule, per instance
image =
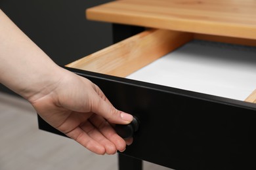
[[[195, 39], [200, 40], [195, 41]], [[205, 40], [237, 42], [236, 44], [242, 43], [242, 46]], [[256, 88], [253, 67], [256, 65], [252, 66], [256, 64], [253, 58], [256, 56], [256, 51], [250, 47], [254, 45], [253, 40], [148, 29], [95, 54], [74, 61], [65, 68], [89, 78], [102, 89], [117, 109], [139, 118], [140, 128], [135, 133], [134, 143], [128, 146], [123, 154], [173, 169], [256, 167], [254, 154], [256, 151], [256, 105], [253, 103], [256, 99], [253, 93], [253, 86]], [[202, 50], [198, 50], [198, 46], [203, 46]], [[215, 54], [215, 48], [226, 49], [226, 46], [230, 49], [221, 51], [224, 53], [219, 53], [221, 57], [203, 58], [203, 54], [209, 53], [208, 49], [213, 49], [212, 52]], [[238, 51], [232, 52], [235, 48]], [[194, 56], [184, 54], [193, 50], [196, 51]], [[249, 56], [236, 56], [240, 52], [241, 55]], [[225, 54], [228, 56], [223, 58]], [[183, 58], [184, 56], [186, 57]], [[171, 58], [171, 63], [167, 63], [165, 58]], [[182, 59], [184, 65], [185, 63], [194, 63], [194, 65], [186, 69], [188, 67], [177, 62]], [[230, 60], [226, 61], [226, 59]], [[230, 75], [233, 78], [228, 82], [228, 86], [232, 81], [234, 82], [233, 90], [230, 90], [227, 85], [220, 88], [219, 82], [216, 86], [211, 86], [213, 82], [207, 84], [211, 78], [207, 77], [209, 72], [202, 68], [198, 70], [205, 71], [201, 80], [194, 80], [195, 78], [191, 75], [184, 74], [184, 72], [196, 71], [201, 66], [195, 63], [202, 60], [211, 65], [213, 70], [209, 72], [215, 72], [218, 69], [224, 71], [225, 67], [234, 69], [233, 72], [220, 71], [211, 76], [217, 77], [212, 80], [213, 82], [222, 79], [226, 83], [228, 77], [223, 76], [218, 79], [218, 76], [235, 73], [238, 80], [236, 76]], [[161, 67], [158, 62], [166, 62], [167, 66]], [[230, 63], [234, 63], [234, 67], [231, 67]], [[156, 65], [158, 66], [155, 67]], [[185, 88], [180, 88], [178, 85], [168, 86], [164, 81], [160, 83], [161, 80], [156, 79], [157, 71], [168, 69], [168, 65], [174, 67], [173, 69], [176, 68], [177, 73], [184, 71], [183, 75], [186, 75], [186, 78], [181, 76], [182, 73], [175, 79], [176, 74], [163, 72], [163, 75], [171, 76], [167, 78], [163, 76], [160, 79], [166, 79], [167, 84], [170, 80], [177, 84], [182, 82], [180, 84], [185, 84]], [[246, 70], [246, 65], [250, 69]], [[158, 70], [152, 70], [152, 68], [158, 68]], [[237, 70], [245, 73], [239, 75]], [[188, 82], [192, 80], [196, 84], [193, 85], [195, 88], [190, 89]], [[247, 82], [243, 84], [244, 80]], [[217, 90], [214, 90], [214, 87], [218, 87]], [[205, 90], [200, 91], [202, 88]], [[222, 89], [224, 95], [218, 93], [219, 89]], [[230, 92], [226, 93], [228, 90]], [[239, 95], [233, 95], [233, 93]], [[40, 127], [40, 124], [39, 128], [53, 131], [45, 126]], [[209, 168], [208, 165], [211, 167]]]

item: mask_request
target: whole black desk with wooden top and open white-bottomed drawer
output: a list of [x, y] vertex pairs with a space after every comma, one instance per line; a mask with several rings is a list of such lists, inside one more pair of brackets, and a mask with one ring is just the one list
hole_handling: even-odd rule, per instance
[[[119, 161], [122, 170], [137, 170], [130, 165], [137, 159], [177, 170], [256, 169], [255, 7], [123, 0], [86, 10], [89, 20], [123, 24], [113, 27], [114, 41], [129, 25], [156, 28], [66, 67], [139, 118], [134, 143], [119, 154], [132, 158]], [[40, 118], [39, 127], [58, 133]]]

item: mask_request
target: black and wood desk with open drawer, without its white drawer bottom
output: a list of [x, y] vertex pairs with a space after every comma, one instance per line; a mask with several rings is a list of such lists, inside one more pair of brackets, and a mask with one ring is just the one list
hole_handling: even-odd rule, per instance
[[[241, 101], [123, 78], [194, 39], [255, 46], [255, 9], [255, 1], [123, 0], [87, 10], [89, 20], [114, 23], [114, 42], [125, 40], [66, 69], [139, 117], [120, 170], [141, 169], [141, 160], [178, 170], [256, 169], [255, 92]], [[53, 131], [40, 118], [39, 128]]]

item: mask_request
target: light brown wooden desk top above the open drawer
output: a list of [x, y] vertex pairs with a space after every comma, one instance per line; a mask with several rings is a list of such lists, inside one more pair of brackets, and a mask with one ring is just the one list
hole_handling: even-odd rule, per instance
[[256, 39], [255, 0], [121, 0], [86, 13], [102, 22]]

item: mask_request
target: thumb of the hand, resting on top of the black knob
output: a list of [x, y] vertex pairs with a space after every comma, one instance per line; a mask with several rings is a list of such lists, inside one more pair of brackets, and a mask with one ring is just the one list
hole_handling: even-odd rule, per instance
[[98, 96], [95, 101], [92, 102], [91, 109], [95, 114], [103, 116], [108, 122], [114, 124], [129, 124], [133, 120], [131, 114], [117, 110], [105, 96]]

